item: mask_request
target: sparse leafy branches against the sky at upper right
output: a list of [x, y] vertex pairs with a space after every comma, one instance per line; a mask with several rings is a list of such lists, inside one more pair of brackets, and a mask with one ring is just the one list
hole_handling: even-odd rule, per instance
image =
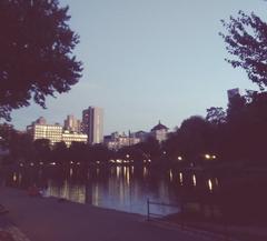
[[237, 59], [227, 60], [234, 68], [246, 70], [248, 78], [260, 90], [267, 86], [267, 23], [255, 13], [238, 12], [229, 22], [221, 20], [228, 34], [220, 32], [227, 43], [227, 51]]

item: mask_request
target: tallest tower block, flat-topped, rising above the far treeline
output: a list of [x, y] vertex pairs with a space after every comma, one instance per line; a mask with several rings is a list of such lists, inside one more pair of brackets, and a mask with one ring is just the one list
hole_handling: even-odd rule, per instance
[[82, 111], [82, 132], [88, 135], [90, 144], [103, 141], [103, 109], [89, 107]]

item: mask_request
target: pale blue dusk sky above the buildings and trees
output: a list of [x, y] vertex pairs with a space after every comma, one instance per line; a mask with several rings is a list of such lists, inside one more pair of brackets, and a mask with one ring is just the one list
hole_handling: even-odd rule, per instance
[[225, 62], [220, 19], [238, 10], [266, 16], [263, 0], [60, 0], [79, 33], [75, 53], [83, 77], [70, 92], [12, 113], [23, 130], [43, 116], [81, 118], [89, 106], [105, 109], [105, 133], [170, 129], [209, 107], [227, 106], [227, 89], [256, 89], [244, 71]]

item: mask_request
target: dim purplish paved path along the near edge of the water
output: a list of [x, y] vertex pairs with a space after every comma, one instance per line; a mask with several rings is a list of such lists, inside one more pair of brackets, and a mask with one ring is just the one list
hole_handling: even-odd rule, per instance
[[26, 191], [0, 188], [0, 203], [31, 241], [217, 241], [196, 232], [147, 222], [138, 214], [89, 204], [31, 198]]

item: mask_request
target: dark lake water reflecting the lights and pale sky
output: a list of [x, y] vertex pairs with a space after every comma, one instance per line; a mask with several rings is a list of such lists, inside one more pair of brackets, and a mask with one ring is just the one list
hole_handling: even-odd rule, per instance
[[[50, 173], [23, 169], [11, 173], [10, 184], [21, 188], [32, 183], [47, 185], [47, 192], [52, 197], [140, 214], [147, 213], [147, 199], [178, 203], [184, 189], [196, 188], [197, 183], [201, 185], [195, 173], [174, 170], [168, 170], [166, 175], [154, 173], [148, 167], [92, 168], [85, 173], [80, 169], [70, 168], [66, 175], [61, 170]], [[218, 183], [218, 179], [207, 179], [202, 181], [202, 187], [212, 192]], [[150, 211], [169, 214], [177, 212], [178, 208], [154, 205]]]

